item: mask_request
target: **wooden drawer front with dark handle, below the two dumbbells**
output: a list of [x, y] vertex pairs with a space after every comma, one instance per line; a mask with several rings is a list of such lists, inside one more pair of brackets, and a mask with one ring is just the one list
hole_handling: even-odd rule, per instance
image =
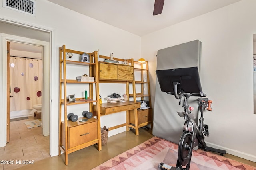
[[69, 147], [97, 139], [97, 121], [68, 128]]

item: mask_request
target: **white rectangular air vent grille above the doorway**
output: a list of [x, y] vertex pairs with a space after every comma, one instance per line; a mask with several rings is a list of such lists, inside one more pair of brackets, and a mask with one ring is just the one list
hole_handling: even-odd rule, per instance
[[3, 0], [3, 7], [36, 16], [35, 0]]

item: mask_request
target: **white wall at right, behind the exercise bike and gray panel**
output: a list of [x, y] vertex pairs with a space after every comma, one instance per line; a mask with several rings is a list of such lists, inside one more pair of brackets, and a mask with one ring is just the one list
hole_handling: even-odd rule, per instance
[[252, 35], [256, 33], [255, 7], [255, 0], [242, 0], [156, 31], [141, 40], [142, 57], [150, 63], [151, 94], [155, 94], [157, 51], [196, 39], [202, 42], [200, 78], [204, 92], [213, 100], [212, 112], [204, 114], [210, 131], [205, 140], [209, 146], [254, 162]]

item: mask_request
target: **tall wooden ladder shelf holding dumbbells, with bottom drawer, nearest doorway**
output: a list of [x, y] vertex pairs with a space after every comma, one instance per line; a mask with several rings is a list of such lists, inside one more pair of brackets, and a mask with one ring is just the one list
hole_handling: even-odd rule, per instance
[[[80, 56], [82, 57], [87, 56], [88, 62], [81, 62], [81, 59], [75, 58], [76, 61], [71, 59], [66, 59], [67, 54], [72, 53], [75, 57]], [[93, 53], [86, 53], [82, 51], [75, 51], [71, 49], [66, 49], [66, 46], [63, 45], [59, 48], [59, 55], [60, 55], [60, 92], [59, 92], [59, 156], [61, 155], [61, 151], [65, 154], [65, 164], [68, 165], [68, 154], [75, 152], [77, 150], [83, 149], [85, 147], [97, 144], [98, 150], [101, 150], [101, 138], [100, 138], [100, 112], [95, 111], [95, 116], [86, 122], [80, 122], [80, 119], [84, 119], [84, 117], [78, 118], [77, 121], [72, 122], [71, 120], [67, 119], [68, 115], [68, 106], [72, 105], [87, 105], [86, 107], [89, 108], [88, 111], [92, 112], [92, 106], [95, 104], [97, 110], [100, 110], [99, 106], [99, 78], [98, 78], [98, 54], [97, 51]], [[69, 69], [68, 66], [69, 65]], [[75, 66], [75, 67], [74, 67]], [[94, 77], [93, 81], [89, 81], [88, 79], [84, 79], [84, 81], [76, 80], [76, 76], [74, 79], [67, 79], [67, 72], [71, 71], [70, 69], [82, 69], [81, 72], [78, 72], [76, 76], [82, 76], [81, 74], [87, 74], [90, 77]], [[88, 88], [88, 99], [86, 100], [85, 97], [76, 96], [75, 102], [69, 102], [67, 92], [71, 90], [68, 88], [71, 84], [76, 84], [80, 89], [83, 89], [80, 94], [84, 92], [84, 86]], [[93, 96], [95, 94], [95, 97]], [[84, 94], [85, 95], [85, 94]], [[84, 110], [81, 110], [81, 112]], [[76, 114], [76, 113], [74, 113]], [[62, 121], [64, 119], [64, 121]]]

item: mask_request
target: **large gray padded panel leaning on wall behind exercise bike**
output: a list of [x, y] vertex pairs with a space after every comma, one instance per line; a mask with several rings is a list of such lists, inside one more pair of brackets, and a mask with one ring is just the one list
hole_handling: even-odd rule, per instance
[[[201, 42], [199, 40], [158, 50], [156, 70], [197, 66], [200, 70]], [[203, 84], [202, 84], [203, 88]], [[204, 90], [204, 89], [202, 89]], [[197, 97], [190, 97], [189, 104], [198, 111]], [[173, 95], [162, 92], [156, 77], [153, 135], [179, 143], [184, 119], [176, 111], [184, 111]]]

